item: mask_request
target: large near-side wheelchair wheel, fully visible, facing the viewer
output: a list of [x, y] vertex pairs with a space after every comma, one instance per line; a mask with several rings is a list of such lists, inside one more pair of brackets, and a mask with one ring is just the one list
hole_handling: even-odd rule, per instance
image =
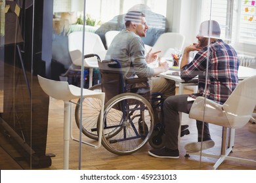
[[102, 146], [117, 155], [132, 154], [148, 142], [153, 128], [150, 103], [138, 94], [121, 93], [104, 107]]

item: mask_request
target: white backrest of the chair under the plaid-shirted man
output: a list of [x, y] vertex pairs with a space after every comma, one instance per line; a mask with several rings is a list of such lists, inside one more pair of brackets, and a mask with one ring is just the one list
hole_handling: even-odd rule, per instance
[[243, 127], [251, 118], [256, 105], [256, 75], [245, 78], [236, 86], [223, 105], [232, 127]]

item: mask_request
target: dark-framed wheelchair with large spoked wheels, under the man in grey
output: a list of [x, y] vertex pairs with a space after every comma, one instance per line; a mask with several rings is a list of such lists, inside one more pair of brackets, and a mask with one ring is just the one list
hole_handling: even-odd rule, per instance
[[[121, 68], [119, 61], [100, 61], [93, 55], [98, 59], [101, 84], [89, 89], [105, 93], [102, 146], [117, 155], [133, 154], [147, 142], [153, 148], [163, 147], [164, 127], [156, 123], [158, 117], [163, 116], [161, 93], [149, 92], [148, 78], [123, 80], [123, 71], [129, 67]], [[99, 133], [99, 108], [100, 101], [87, 98], [83, 99], [83, 111], [79, 105], [75, 107], [77, 127], [81, 122], [83, 134], [95, 140]], [[82, 120], [79, 119], [81, 112]]]

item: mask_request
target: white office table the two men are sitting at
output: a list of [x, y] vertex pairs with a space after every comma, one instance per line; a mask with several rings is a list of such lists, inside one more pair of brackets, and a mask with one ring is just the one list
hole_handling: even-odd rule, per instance
[[[193, 78], [192, 80], [189, 80], [188, 82], [185, 82], [181, 79], [181, 76], [179, 75], [170, 75], [171, 73], [179, 72], [175, 70], [169, 70], [165, 73], [161, 73], [160, 77], [167, 78], [170, 80], [174, 80], [175, 82], [179, 83], [179, 95], [183, 94], [184, 86], [197, 86], [198, 85], [198, 78]], [[238, 69], [238, 80], [244, 80], [245, 78], [248, 78], [250, 76], [256, 75], [256, 69], [250, 68], [250, 67], [244, 67], [239, 66]], [[197, 91], [194, 91], [196, 93]], [[180, 120], [182, 118], [181, 112], [180, 112]], [[179, 131], [180, 135], [181, 131]], [[229, 131], [229, 146], [234, 146], [234, 135], [235, 135], [235, 129], [230, 129]], [[180, 136], [179, 136], [180, 137]]]

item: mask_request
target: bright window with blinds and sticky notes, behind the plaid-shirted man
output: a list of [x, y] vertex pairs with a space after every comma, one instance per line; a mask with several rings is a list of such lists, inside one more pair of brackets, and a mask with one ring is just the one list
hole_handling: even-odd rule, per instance
[[216, 20], [221, 39], [249, 54], [256, 49], [256, 2], [253, 0], [202, 1], [202, 21]]

